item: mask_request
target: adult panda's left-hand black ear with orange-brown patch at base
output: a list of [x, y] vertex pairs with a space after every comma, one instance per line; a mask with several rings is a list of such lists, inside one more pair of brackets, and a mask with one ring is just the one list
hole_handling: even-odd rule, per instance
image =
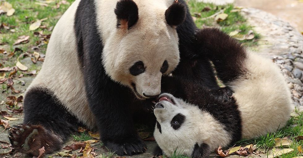
[[138, 6], [132, 0], [118, 1], [115, 14], [117, 17], [117, 28], [121, 29], [130, 29], [139, 19]]

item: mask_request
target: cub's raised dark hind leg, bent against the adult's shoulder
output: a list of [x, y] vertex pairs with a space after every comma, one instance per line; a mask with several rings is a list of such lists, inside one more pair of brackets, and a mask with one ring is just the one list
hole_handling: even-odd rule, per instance
[[219, 29], [199, 30], [195, 43], [197, 51], [212, 61], [218, 77], [224, 83], [237, 79], [245, 71], [245, 48]]

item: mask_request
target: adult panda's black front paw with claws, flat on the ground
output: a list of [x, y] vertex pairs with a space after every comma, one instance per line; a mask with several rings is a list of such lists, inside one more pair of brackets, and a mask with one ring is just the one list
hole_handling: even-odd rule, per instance
[[147, 150], [145, 143], [140, 138], [126, 138], [123, 140], [103, 141], [104, 145], [110, 151], [114, 151], [117, 155], [136, 155]]

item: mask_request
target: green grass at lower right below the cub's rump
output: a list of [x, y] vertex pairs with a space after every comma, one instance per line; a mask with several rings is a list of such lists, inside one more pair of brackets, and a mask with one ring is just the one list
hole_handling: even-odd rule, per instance
[[303, 156], [303, 153], [298, 151], [299, 146], [303, 146], [303, 140], [297, 142], [295, 138], [297, 136], [303, 136], [303, 112], [296, 111], [297, 116], [292, 116], [287, 125], [282, 129], [277, 130], [275, 133], [266, 134], [254, 139], [243, 139], [237, 142], [237, 145], [243, 144], [255, 144], [256, 147], [264, 152], [270, 151], [275, 146], [275, 138], [284, 138], [288, 137], [292, 140], [292, 144], [289, 148], [294, 149], [294, 151], [284, 154], [280, 157], [288, 158], [294, 156]]

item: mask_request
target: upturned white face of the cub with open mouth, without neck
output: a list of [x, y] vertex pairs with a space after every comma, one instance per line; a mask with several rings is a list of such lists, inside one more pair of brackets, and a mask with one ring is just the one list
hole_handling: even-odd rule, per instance
[[171, 156], [174, 151], [191, 156], [194, 145], [206, 139], [199, 128], [201, 110], [171, 94], [161, 94], [159, 98], [154, 109], [157, 118], [156, 142], [166, 156]]

